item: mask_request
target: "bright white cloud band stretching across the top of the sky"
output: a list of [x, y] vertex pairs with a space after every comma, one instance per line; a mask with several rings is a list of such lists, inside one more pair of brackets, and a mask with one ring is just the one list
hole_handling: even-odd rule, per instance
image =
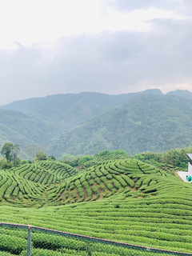
[[179, 19], [174, 10], [149, 7], [124, 12], [107, 0], [0, 0], [0, 48], [31, 46], [58, 38], [104, 30], [147, 32], [154, 18]]

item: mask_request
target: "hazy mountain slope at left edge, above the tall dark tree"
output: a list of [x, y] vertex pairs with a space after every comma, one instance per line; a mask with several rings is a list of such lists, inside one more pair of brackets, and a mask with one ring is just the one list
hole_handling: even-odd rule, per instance
[[11, 141], [21, 148], [34, 142], [46, 145], [50, 143], [50, 130], [54, 130], [50, 122], [42, 122], [40, 118], [32, 118], [15, 110], [0, 109], [0, 144]]

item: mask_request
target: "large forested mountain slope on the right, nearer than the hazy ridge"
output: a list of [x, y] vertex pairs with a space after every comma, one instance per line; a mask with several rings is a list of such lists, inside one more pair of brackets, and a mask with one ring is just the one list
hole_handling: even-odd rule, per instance
[[191, 145], [192, 105], [178, 96], [142, 95], [109, 110], [58, 138], [55, 154], [101, 150], [164, 151]]

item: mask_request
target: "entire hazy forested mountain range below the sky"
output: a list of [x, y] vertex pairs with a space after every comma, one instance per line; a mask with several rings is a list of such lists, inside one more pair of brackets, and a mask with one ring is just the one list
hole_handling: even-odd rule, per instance
[[58, 94], [12, 102], [0, 109], [0, 143], [46, 146], [47, 153], [129, 154], [191, 145], [192, 93]]

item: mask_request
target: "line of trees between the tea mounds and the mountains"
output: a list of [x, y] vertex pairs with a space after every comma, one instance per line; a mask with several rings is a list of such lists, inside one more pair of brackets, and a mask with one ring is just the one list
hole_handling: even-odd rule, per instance
[[[0, 151], [2, 154], [0, 158], [0, 168], [11, 168], [13, 166], [18, 166], [22, 160], [19, 157], [20, 148], [17, 144], [12, 142], [6, 142]], [[41, 160], [55, 160], [54, 155], [46, 156], [46, 153], [42, 151], [41, 146], [38, 144], [33, 144], [26, 149], [26, 153], [30, 156], [30, 162], [38, 162]], [[176, 150], [166, 150], [162, 153], [154, 152], [143, 152], [140, 154], [135, 154], [134, 158], [141, 160], [142, 162], [148, 162], [150, 164], [156, 165], [159, 162], [170, 164], [175, 167], [187, 168], [188, 157], [187, 153], [192, 153], [192, 146], [184, 149]], [[63, 154], [62, 158], [59, 159], [62, 162], [70, 166], [83, 166], [87, 161], [93, 160], [94, 158], [109, 156], [113, 154], [122, 154], [127, 156], [127, 153], [123, 150], [102, 150], [99, 153], [93, 155], [78, 155], [74, 156], [72, 154]], [[23, 160], [23, 162], [26, 162]]]

